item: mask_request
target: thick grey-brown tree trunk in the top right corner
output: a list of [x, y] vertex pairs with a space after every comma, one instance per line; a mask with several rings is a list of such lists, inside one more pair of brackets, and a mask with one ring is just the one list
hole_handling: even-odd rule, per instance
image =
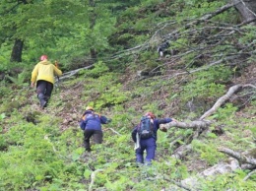
[[[235, 8], [240, 13], [244, 23], [256, 20], [256, 1], [255, 0], [231, 0], [236, 3]], [[256, 22], [251, 22], [255, 25]]]

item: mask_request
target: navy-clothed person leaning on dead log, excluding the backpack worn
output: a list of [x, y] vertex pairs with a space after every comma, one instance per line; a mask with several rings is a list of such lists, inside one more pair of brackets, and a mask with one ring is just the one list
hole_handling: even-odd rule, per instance
[[[155, 159], [155, 154], [157, 150], [157, 132], [160, 129], [160, 124], [169, 123], [171, 121], [176, 121], [173, 118], [156, 118], [156, 116], [152, 112], [147, 112], [145, 116], [151, 118], [153, 123], [153, 135], [147, 139], [141, 139], [138, 134], [138, 129], [140, 128], [140, 124], [134, 127], [132, 131], [132, 139], [135, 143], [137, 143], [137, 147], [135, 148], [136, 153], [136, 162], [138, 165], [143, 163], [151, 164], [151, 161]], [[139, 146], [138, 146], [139, 145]], [[146, 159], [144, 161], [144, 151], [147, 152]]]

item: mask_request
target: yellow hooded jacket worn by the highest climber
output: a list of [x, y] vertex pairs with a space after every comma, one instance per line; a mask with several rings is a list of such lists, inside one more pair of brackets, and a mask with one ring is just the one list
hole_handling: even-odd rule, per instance
[[44, 80], [54, 84], [54, 75], [61, 76], [61, 70], [48, 60], [43, 60], [37, 63], [32, 70], [32, 83]]

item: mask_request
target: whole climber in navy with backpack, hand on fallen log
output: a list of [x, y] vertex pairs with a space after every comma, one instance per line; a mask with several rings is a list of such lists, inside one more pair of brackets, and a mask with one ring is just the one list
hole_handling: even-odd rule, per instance
[[[142, 164], [149, 165], [155, 159], [157, 150], [157, 132], [160, 124], [176, 121], [173, 118], [156, 118], [153, 112], [147, 112], [142, 118], [140, 124], [134, 127], [132, 131], [132, 139], [137, 143], [135, 148], [136, 162], [140, 166]], [[144, 159], [144, 152], [147, 152]], [[144, 161], [145, 160], [145, 161]]]

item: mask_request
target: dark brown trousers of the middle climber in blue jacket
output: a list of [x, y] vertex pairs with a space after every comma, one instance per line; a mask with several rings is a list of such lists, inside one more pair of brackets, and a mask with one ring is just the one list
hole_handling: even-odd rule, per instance
[[99, 130], [86, 129], [84, 131], [84, 144], [87, 151], [91, 151], [90, 139], [94, 136], [94, 142], [101, 144], [103, 139], [103, 133]]

